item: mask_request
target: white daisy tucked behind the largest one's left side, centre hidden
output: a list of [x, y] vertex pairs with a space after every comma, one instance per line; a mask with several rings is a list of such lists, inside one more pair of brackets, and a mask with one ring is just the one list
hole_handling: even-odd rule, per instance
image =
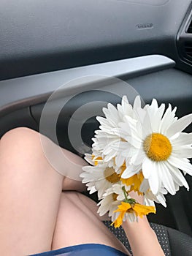
[[100, 130], [96, 130], [95, 138], [93, 138], [93, 150], [99, 151], [101, 156], [104, 157], [104, 161], [108, 162], [112, 158], [115, 158], [115, 165], [119, 168], [123, 165], [125, 157], [120, 152], [128, 150], [130, 144], [127, 143], [131, 139], [131, 136], [124, 132], [119, 127], [119, 124], [123, 121], [128, 121], [126, 129], [131, 131], [131, 127], [135, 126], [134, 120], [135, 113], [139, 108], [140, 102], [138, 99], [134, 102], [134, 109], [128, 103], [126, 96], [123, 96], [121, 105], [118, 104], [117, 108], [108, 104], [107, 108], [103, 108], [103, 112], [106, 118], [98, 116], [96, 119], [99, 121]]

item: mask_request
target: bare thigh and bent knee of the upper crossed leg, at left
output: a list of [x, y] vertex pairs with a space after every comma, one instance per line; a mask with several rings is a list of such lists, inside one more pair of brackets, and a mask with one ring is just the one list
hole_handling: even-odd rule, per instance
[[64, 177], [47, 162], [39, 133], [18, 128], [0, 140], [0, 255], [51, 249]]

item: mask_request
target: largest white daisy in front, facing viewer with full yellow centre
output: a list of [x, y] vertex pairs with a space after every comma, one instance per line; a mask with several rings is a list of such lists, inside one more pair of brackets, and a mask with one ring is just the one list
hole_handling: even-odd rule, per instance
[[[122, 178], [129, 178], [142, 170], [148, 179], [153, 195], [158, 195], [161, 187], [174, 195], [178, 186], [188, 188], [183, 173], [192, 175], [192, 166], [188, 157], [192, 157], [192, 133], [183, 133], [192, 121], [192, 114], [177, 120], [171, 105], [166, 109], [158, 107], [155, 99], [151, 105], [138, 109], [138, 122], [132, 129], [131, 146], [134, 156], [128, 159], [129, 165]], [[126, 132], [126, 122], [120, 124]], [[126, 151], [122, 154], [126, 157]], [[179, 170], [180, 169], [180, 170]]]

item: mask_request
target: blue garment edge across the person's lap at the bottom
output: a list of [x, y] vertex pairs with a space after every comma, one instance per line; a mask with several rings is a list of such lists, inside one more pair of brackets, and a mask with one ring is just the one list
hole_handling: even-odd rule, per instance
[[50, 252], [37, 253], [30, 256], [127, 256], [118, 249], [104, 244], [78, 244], [56, 249]]

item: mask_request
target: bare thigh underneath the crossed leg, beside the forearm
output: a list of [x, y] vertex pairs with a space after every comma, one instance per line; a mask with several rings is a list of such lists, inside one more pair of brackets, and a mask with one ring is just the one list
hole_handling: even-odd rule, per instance
[[52, 249], [76, 244], [105, 244], [120, 251], [128, 251], [96, 213], [98, 206], [78, 192], [63, 192], [59, 206]]

